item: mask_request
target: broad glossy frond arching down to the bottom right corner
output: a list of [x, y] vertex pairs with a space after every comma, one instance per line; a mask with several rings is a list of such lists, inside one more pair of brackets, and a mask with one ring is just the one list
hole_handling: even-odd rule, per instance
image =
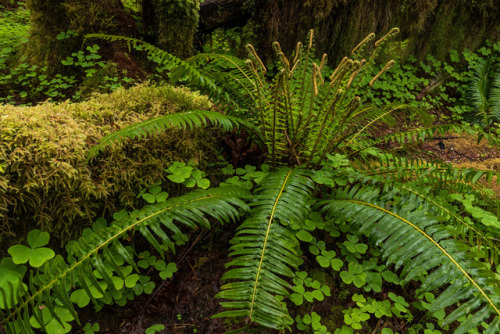
[[382, 249], [387, 263], [401, 266], [402, 281], [422, 278], [420, 291], [440, 289], [443, 292], [431, 304], [436, 312], [448, 306], [461, 304], [444, 319], [447, 325], [471, 314], [455, 333], [467, 333], [481, 322], [493, 317], [489, 328], [498, 331], [500, 317], [500, 278], [483, 263], [467, 254], [470, 249], [452, 238], [440, 220], [422, 208], [413, 194], [389, 206], [395, 198], [371, 186], [346, 188], [335, 192], [333, 199], [324, 203], [329, 219], [352, 219], [353, 227], [367, 234]]

